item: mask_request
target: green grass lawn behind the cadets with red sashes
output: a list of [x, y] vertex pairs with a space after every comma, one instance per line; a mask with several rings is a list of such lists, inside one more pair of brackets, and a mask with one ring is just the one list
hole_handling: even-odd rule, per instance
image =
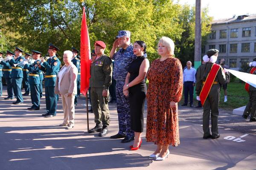
[[[148, 86], [148, 80], [147, 80]], [[249, 100], [249, 96], [247, 91], [244, 89], [244, 82], [241, 82], [238, 78], [236, 78], [233, 82], [230, 82], [227, 85], [227, 102], [224, 102], [224, 91], [221, 90], [221, 99], [219, 103], [219, 107], [226, 110], [233, 110], [235, 108], [239, 108], [247, 104]], [[184, 93], [184, 92], [183, 92]], [[184, 95], [179, 104], [183, 104]], [[194, 105], [197, 106], [198, 102], [196, 100], [196, 96], [194, 95]]]

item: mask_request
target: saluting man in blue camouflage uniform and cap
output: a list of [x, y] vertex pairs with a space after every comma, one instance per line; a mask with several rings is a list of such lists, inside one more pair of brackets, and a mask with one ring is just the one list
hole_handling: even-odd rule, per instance
[[[136, 59], [130, 36], [130, 31], [119, 31], [110, 52], [111, 59], [115, 60], [113, 77], [116, 80], [116, 106], [119, 122], [119, 132], [111, 136], [111, 139], [125, 138], [122, 140], [123, 143], [134, 140], [134, 131], [131, 130], [130, 122], [129, 99], [123, 94], [123, 86], [125, 85], [129, 65]], [[116, 52], [118, 47], [119, 50]]]

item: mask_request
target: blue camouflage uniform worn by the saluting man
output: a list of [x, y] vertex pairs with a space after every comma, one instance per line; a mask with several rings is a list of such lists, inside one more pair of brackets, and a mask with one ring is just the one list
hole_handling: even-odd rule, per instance
[[115, 60], [113, 78], [116, 80], [116, 106], [119, 132], [117, 135], [111, 136], [111, 138], [115, 139], [118, 135], [126, 135], [126, 141], [126, 138], [132, 139], [134, 137], [134, 131], [131, 130], [129, 99], [123, 94], [123, 86], [125, 85], [129, 65], [136, 59], [133, 53], [133, 45], [130, 44], [126, 49], [120, 48], [119, 51], [113, 55], [113, 59]]

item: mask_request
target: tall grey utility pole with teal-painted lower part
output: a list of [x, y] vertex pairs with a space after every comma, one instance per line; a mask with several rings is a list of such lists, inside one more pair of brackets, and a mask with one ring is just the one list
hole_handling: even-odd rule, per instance
[[194, 68], [201, 65], [201, 34], [202, 34], [202, 15], [201, 0], [195, 0], [195, 62]]

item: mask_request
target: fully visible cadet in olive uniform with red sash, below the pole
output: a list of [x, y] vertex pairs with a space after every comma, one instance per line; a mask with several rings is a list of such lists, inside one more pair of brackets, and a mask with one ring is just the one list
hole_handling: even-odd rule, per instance
[[[203, 138], [204, 139], [208, 139], [208, 138], [217, 139], [220, 137], [218, 133], [218, 114], [219, 114], [218, 104], [220, 101], [219, 83], [226, 84], [228, 81], [229, 75], [227, 74], [228, 72], [224, 74], [223, 68], [220, 65], [215, 64], [217, 57], [218, 57], [218, 50], [216, 49], [208, 50], [207, 56], [203, 57], [206, 63], [201, 65], [198, 68], [198, 72], [196, 76], [195, 90], [197, 94], [197, 99], [201, 100], [204, 108], [204, 113], [203, 113], [203, 130], [204, 130]], [[215, 72], [212, 72], [213, 66], [215, 66], [214, 68], [218, 68], [215, 70]], [[209, 80], [212, 80], [210, 84], [208, 84]], [[208, 88], [208, 89], [207, 91], [203, 91], [203, 88], [204, 89]], [[206, 94], [208, 93], [208, 96], [202, 100], [201, 93], [206, 93]], [[210, 130], [209, 130], [210, 112], [211, 112], [211, 123], [212, 123], [212, 135], [210, 134]]]

